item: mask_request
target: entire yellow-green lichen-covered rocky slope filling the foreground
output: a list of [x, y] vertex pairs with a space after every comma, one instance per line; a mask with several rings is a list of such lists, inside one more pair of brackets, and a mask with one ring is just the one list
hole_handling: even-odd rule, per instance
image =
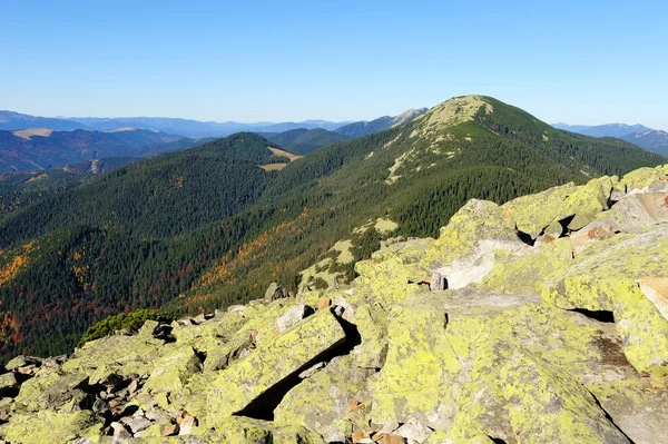
[[665, 442], [667, 174], [471, 200], [347, 288], [19, 356], [0, 440]]

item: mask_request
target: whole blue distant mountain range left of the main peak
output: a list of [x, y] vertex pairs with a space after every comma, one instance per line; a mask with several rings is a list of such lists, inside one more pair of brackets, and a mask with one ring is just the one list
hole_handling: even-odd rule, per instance
[[118, 165], [100, 162], [101, 158], [140, 158], [179, 151], [244, 131], [259, 134], [287, 151], [303, 156], [332, 144], [392, 128], [425, 110], [410, 109], [396, 117], [385, 116], [354, 124], [327, 120], [219, 124], [147, 117], [82, 117], [73, 120], [0, 111], [0, 172], [71, 166], [72, 171], [88, 168], [89, 172], [99, 174]]

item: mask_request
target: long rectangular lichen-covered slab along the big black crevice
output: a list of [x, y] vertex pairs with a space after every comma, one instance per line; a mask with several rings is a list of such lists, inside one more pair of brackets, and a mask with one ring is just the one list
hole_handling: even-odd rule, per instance
[[274, 343], [258, 346], [223, 371], [212, 385], [207, 393], [207, 424], [215, 426], [222, 418], [243, 411], [345, 338], [340, 320], [330, 310], [321, 310], [284, 332]]

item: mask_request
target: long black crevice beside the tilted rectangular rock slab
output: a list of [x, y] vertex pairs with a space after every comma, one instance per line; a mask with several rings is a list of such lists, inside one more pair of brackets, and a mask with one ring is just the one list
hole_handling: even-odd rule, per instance
[[[332, 313], [334, 314], [333, 308]], [[302, 381], [304, 381], [299, 377], [299, 374], [302, 372], [320, 363], [328, 363], [337, 356], [348, 355], [353, 351], [353, 348], [362, 344], [362, 336], [360, 336], [357, 327], [354, 324], [351, 324], [338, 316], [335, 317], [345, 333], [345, 339], [343, 339], [338, 344], [333, 345], [326, 352], [320, 354], [318, 356], [302, 365], [295, 372], [291, 373], [287, 377], [274, 384], [272, 387], [269, 387], [255, 399], [253, 399], [246, 407], [238, 412], [235, 412], [234, 415], [252, 417], [255, 420], [274, 421], [274, 410], [276, 410], [278, 404], [281, 404], [285, 395], [291, 389], [293, 389], [294, 387], [299, 385]]]

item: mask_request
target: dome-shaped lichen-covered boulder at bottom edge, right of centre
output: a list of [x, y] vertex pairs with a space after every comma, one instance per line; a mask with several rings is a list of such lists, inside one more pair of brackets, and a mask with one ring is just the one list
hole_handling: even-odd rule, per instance
[[485, 434], [517, 443], [628, 443], [568, 373], [512, 344], [498, 343], [494, 351], [500, 354], [480, 359], [460, 394], [455, 441]]

